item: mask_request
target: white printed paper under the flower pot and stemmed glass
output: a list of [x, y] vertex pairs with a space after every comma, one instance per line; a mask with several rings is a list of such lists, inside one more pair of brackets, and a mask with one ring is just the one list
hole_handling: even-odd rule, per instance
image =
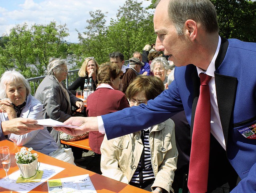
[[43, 170], [43, 176], [40, 182], [27, 182], [27, 183], [16, 183], [16, 180], [18, 177], [20, 177], [20, 170], [15, 171], [14, 173], [11, 173], [9, 175], [10, 180], [12, 180], [12, 183], [10, 184], [3, 184], [2, 181], [6, 178], [2, 178], [0, 180], [0, 186], [12, 191], [16, 191], [19, 193], [27, 193], [34, 189], [35, 187], [39, 186], [43, 182], [46, 182], [48, 179], [56, 175], [57, 173], [60, 173], [65, 168], [58, 167], [55, 165], [49, 165], [46, 163], [40, 163], [39, 170]]

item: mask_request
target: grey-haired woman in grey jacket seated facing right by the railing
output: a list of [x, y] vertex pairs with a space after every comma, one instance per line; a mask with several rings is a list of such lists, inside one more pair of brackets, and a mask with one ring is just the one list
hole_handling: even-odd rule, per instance
[[[64, 122], [71, 117], [71, 105], [83, 110], [84, 103], [81, 99], [69, 92], [62, 83], [68, 75], [65, 60], [50, 58], [47, 71], [47, 76], [42, 80], [36, 90], [35, 98], [44, 105], [44, 119], [51, 118]], [[52, 127], [47, 127], [47, 129], [59, 148], [61, 148], [59, 131], [56, 131]]]

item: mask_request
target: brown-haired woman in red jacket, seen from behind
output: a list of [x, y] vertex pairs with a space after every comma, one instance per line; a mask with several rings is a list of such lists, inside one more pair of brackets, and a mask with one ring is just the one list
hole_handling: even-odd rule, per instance
[[[119, 91], [121, 73], [122, 71], [116, 64], [106, 63], [100, 66], [97, 74], [97, 89], [87, 99], [86, 113], [88, 117], [105, 115], [130, 107], [125, 94]], [[104, 134], [90, 131], [89, 145], [94, 153], [101, 154], [100, 145], [103, 138]]]

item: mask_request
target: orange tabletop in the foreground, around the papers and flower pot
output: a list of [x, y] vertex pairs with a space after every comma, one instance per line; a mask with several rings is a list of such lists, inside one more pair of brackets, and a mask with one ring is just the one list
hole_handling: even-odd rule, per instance
[[[9, 175], [13, 173], [14, 171], [18, 170], [18, 166], [15, 163], [14, 155], [16, 152], [20, 151], [22, 146], [17, 146], [15, 143], [5, 140], [5, 141], [0, 141], [0, 146], [7, 145], [10, 148], [10, 154], [11, 154], [11, 167], [9, 170]], [[59, 167], [65, 168], [63, 171], [60, 173], [56, 174], [54, 177], [51, 179], [58, 179], [58, 178], [64, 178], [64, 177], [71, 177], [71, 176], [76, 176], [76, 175], [83, 175], [83, 174], [89, 174], [90, 179], [96, 189], [97, 192], [99, 193], [146, 193], [148, 191], [145, 191], [143, 189], [139, 189], [137, 187], [110, 179], [108, 177], [104, 177], [102, 175], [99, 175], [97, 173], [94, 173], [92, 171], [83, 169], [81, 167], [66, 163], [64, 161], [60, 161], [58, 159], [55, 159], [53, 157], [50, 157], [48, 155], [44, 155], [43, 153], [38, 153], [38, 161], [41, 163], [48, 163], [50, 165], [56, 165]], [[0, 178], [5, 177], [5, 171], [1, 167], [0, 168]], [[1, 193], [10, 193], [10, 190], [4, 189], [0, 187], [0, 192]], [[12, 191], [15, 192], [15, 191]], [[44, 182], [38, 187], [34, 188], [31, 193], [38, 193], [38, 192], [48, 192], [48, 187], [47, 183]]]

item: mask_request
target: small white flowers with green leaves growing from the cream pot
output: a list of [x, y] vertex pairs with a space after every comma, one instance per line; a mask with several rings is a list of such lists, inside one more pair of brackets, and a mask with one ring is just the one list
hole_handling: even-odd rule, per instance
[[26, 147], [22, 147], [20, 149], [20, 152], [15, 153], [16, 163], [28, 164], [35, 161], [38, 155], [37, 153], [31, 153], [32, 150], [32, 147], [28, 148], [28, 150], [26, 149]]

